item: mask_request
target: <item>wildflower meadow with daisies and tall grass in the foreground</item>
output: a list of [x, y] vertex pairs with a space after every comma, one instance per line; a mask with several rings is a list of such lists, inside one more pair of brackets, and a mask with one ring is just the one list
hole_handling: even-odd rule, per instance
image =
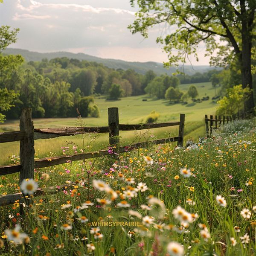
[[255, 255], [255, 138], [254, 129], [216, 133], [118, 159], [109, 150], [36, 169], [21, 184], [1, 176], [0, 194], [21, 191], [24, 201], [0, 208], [0, 255]]

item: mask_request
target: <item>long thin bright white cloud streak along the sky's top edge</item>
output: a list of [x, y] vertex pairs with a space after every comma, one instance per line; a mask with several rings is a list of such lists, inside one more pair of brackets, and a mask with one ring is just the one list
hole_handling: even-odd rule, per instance
[[93, 7], [90, 5], [80, 5], [75, 3], [40, 3], [37, 1], [30, 0], [31, 5], [28, 7], [25, 7], [21, 4], [21, 0], [17, 0], [17, 7], [22, 11], [31, 12], [34, 9], [38, 9], [40, 7], [48, 7], [52, 9], [60, 9], [60, 8], [66, 8], [66, 9], [73, 9], [75, 11], [82, 10], [83, 12], [91, 12], [91, 13], [102, 13], [102, 12], [114, 12], [116, 14], [129, 14], [129, 15], [135, 15], [135, 12], [131, 12], [125, 9], [120, 8], [106, 8], [106, 7]]

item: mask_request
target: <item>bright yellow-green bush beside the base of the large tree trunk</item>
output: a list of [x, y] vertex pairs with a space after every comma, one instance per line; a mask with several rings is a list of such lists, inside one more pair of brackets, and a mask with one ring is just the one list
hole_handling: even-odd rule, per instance
[[241, 84], [228, 88], [227, 96], [224, 96], [217, 102], [219, 104], [217, 113], [221, 115], [239, 113], [243, 109], [244, 102], [250, 95], [250, 91], [249, 87], [243, 89]]

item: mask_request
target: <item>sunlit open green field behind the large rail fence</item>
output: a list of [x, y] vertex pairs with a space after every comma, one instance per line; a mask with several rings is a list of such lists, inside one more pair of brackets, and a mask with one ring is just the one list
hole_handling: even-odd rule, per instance
[[[181, 84], [180, 90], [186, 91], [191, 84]], [[188, 101], [187, 105], [175, 104], [170, 105], [169, 101], [150, 99], [146, 95], [133, 96], [122, 98], [118, 101], [106, 101], [103, 97], [98, 97], [95, 100], [96, 105], [100, 109], [100, 118], [85, 118], [83, 119], [85, 126], [105, 126], [108, 125], [108, 108], [119, 108], [119, 122], [123, 124], [137, 124], [145, 122], [146, 116], [155, 110], [160, 113], [157, 122], [169, 122], [172, 120], [179, 120], [180, 113], [185, 113], [185, 141], [189, 138], [198, 140], [198, 137], [205, 135], [204, 128], [204, 114], [214, 114], [216, 103], [212, 103], [212, 96], [215, 95], [214, 88], [210, 82], [194, 84], [199, 96], [209, 96], [208, 101], [202, 103], [193, 103]], [[142, 101], [147, 99], [147, 101]], [[81, 113], [82, 115], [82, 113]], [[49, 119], [34, 119], [35, 128], [49, 128], [49, 127], [70, 127], [78, 126], [76, 118], [49, 118]], [[169, 132], [177, 134], [178, 128], [158, 128], [150, 130], [150, 134], [157, 137], [166, 137]], [[0, 131], [17, 131], [19, 130], [18, 120], [7, 120], [4, 124], [0, 124]], [[148, 138], [148, 133], [143, 130], [141, 133], [137, 131], [122, 132], [120, 134], [122, 144], [132, 143], [135, 141], [142, 141]], [[93, 135], [92, 137], [94, 137]], [[86, 135], [85, 143], [89, 144], [92, 137]], [[36, 140], [35, 152], [39, 158], [46, 157], [50, 152], [61, 155], [61, 146], [66, 146], [67, 142], [72, 141], [76, 145], [82, 146], [81, 136], [59, 137], [48, 140]], [[96, 137], [96, 141], [90, 143], [87, 151], [104, 148], [108, 145], [108, 134], [100, 134]], [[2, 143], [0, 145], [0, 165], [9, 163], [9, 156], [19, 154], [19, 142]]]

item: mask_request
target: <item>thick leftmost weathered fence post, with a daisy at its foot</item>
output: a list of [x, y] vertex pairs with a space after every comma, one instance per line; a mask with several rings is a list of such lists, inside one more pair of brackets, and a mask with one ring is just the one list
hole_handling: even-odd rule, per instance
[[23, 179], [34, 178], [34, 125], [32, 109], [22, 108], [20, 116], [20, 131], [25, 131], [25, 137], [20, 140], [20, 183]]

